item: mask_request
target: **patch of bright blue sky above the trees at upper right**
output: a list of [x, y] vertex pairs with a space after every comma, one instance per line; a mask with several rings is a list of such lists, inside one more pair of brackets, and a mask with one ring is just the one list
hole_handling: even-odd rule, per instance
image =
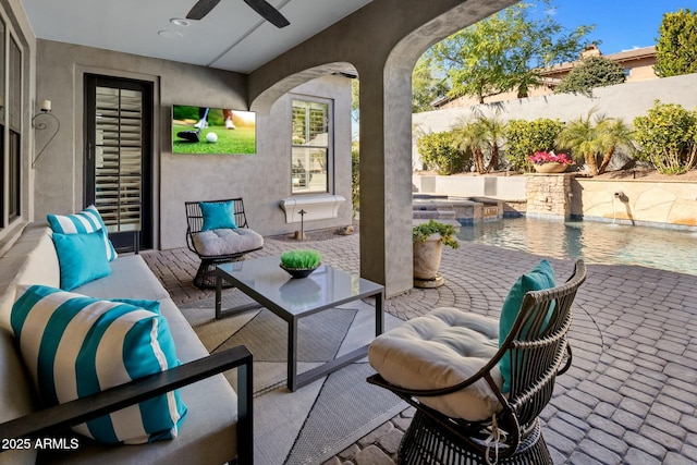
[[697, 11], [697, 0], [555, 0], [554, 20], [573, 29], [595, 24], [588, 35], [603, 54], [656, 45], [663, 13]]

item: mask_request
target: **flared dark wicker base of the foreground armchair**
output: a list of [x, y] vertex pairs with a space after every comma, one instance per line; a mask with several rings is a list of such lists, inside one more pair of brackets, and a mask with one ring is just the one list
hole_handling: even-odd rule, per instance
[[[490, 457], [493, 461], [493, 456]], [[475, 465], [487, 464], [479, 451], [472, 450], [463, 441], [443, 431], [426, 415], [416, 412], [398, 451], [398, 463], [404, 465]], [[523, 438], [518, 450], [497, 464], [504, 465], [553, 465], [552, 457], [542, 438], [539, 420]]]

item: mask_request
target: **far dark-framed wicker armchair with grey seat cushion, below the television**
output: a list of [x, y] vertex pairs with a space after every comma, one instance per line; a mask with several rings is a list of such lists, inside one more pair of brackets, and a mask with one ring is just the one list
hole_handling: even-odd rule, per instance
[[264, 238], [247, 224], [242, 198], [206, 200], [207, 203], [233, 203], [235, 229], [203, 231], [204, 215], [199, 201], [185, 201], [186, 245], [200, 258], [200, 266], [194, 278], [196, 287], [216, 286], [216, 266], [244, 258], [245, 254], [264, 246]]

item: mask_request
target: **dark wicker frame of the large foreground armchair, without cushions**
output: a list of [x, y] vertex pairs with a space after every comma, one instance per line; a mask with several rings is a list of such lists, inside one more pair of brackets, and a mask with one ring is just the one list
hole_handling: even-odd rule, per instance
[[[585, 265], [578, 260], [566, 283], [527, 292], [508, 338], [498, 351], [493, 346], [496, 355], [488, 362], [485, 359], [475, 375], [455, 386], [416, 390], [390, 383], [379, 374], [368, 378], [368, 382], [389, 389], [417, 409], [400, 444], [399, 463], [552, 464], [539, 415], [552, 396], [557, 376], [571, 366], [566, 333], [572, 322], [572, 303], [585, 279]], [[499, 362], [506, 353], [511, 357], [511, 386], [504, 394]], [[486, 419], [453, 418], [424, 403], [432, 396], [461, 394], [475, 383], [493, 393], [494, 413]]]

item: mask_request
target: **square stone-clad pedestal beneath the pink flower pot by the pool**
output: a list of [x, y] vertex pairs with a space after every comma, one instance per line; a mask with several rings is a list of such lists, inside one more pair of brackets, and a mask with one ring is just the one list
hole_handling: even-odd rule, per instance
[[528, 174], [525, 185], [527, 216], [564, 220], [572, 215], [571, 183], [574, 173]]

